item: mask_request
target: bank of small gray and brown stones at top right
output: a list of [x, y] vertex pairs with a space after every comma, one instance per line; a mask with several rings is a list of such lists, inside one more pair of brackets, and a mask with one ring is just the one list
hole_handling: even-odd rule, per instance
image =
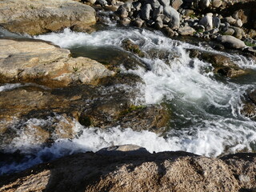
[[[98, 0], [96, 3], [101, 6], [115, 6], [118, 22], [123, 26], [151, 27], [162, 30], [169, 37], [190, 35], [197, 38], [217, 39], [234, 49], [256, 46], [254, 39], [256, 31], [251, 29], [245, 32], [242, 29], [243, 24], [247, 22], [245, 15], [242, 14], [243, 10], [236, 10], [228, 17], [218, 14], [222, 13], [221, 10], [226, 6], [230, 6], [231, 2], [138, 0], [124, 3]], [[255, 54], [255, 49], [248, 50]]]

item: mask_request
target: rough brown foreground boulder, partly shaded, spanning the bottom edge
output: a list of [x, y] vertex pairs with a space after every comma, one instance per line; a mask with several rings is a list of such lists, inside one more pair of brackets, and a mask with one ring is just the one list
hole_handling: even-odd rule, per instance
[[255, 154], [75, 154], [2, 177], [0, 191], [253, 191], [255, 165]]

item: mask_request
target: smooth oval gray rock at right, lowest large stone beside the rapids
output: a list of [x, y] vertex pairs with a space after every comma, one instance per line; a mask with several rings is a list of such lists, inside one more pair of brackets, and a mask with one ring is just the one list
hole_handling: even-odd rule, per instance
[[246, 46], [240, 39], [230, 35], [222, 35], [218, 40], [220, 40], [224, 46], [234, 49], [242, 49]]

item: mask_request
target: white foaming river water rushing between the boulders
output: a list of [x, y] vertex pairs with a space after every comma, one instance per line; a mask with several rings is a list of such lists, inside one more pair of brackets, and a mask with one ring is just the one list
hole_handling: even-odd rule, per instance
[[[150, 152], [184, 150], [210, 157], [256, 150], [256, 122], [240, 114], [242, 95], [246, 90], [256, 86], [256, 65], [249, 58], [239, 54], [218, 52], [200, 43], [194, 46], [166, 38], [159, 32], [134, 28], [110, 27], [92, 34], [66, 29], [62, 33], [39, 35], [34, 38], [70, 49], [73, 56], [84, 56], [100, 62], [104, 59], [109, 61], [111, 56], [125, 51], [122, 49], [122, 40], [130, 38], [146, 53], [145, 58], [139, 59], [150, 68], [122, 68], [122, 73], [138, 74], [145, 82], [144, 85], [140, 85], [140, 98], [134, 101], [134, 104], [165, 103], [171, 111], [170, 127], [163, 136], [150, 131], [136, 132], [129, 127], [113, 127], [107, 130], [97, 127], [83, 129], [78, 122], [74, 122], [74, 130], [80, 133], [78, 137], [73, 140], [58, 139], [49, 147], [36, 150], [33, 148], [31, 150], [34, 150], [34, 158], [19, 164], [2, 166], [0, 172], [22, 170], [42, 162], [47, 157], [58, 158], [88, 150], [97, 151], [113, 144], [137, 144], [146, 147]], [[210, 63], [190, 58], [187, 49], [229, 56], [238, 66], [249, 70], [250, 73], [234, 79], [219, 77], [213, 73]], [[157, 55], [164, 53], [166, 57], [150, 57], [155, 50]], [[14, 89], [16, 86], [24, 85], [7, 84], [0, 86], [0, 91]], [[44, 121], [50, 119], [31, 119], [30, 123], [46, 123]], [[31, 154], [27, 146], [34, 145], [30, 142], [32, 140], [26, 138], [24, 153], [30, 151]], [[25, 149], [22, 136], [12, 144], [13, 149]]]

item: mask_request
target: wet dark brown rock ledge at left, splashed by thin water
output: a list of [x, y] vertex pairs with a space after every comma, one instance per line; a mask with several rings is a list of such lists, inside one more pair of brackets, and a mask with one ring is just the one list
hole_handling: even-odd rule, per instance
[[[58, 138], [73, 138], [75, 123], [108, 128], [162, 133], [170, 121], [164, 106], [134, 106], [139, 78], [119, 75], [102, 79], [98, 86], [47, 89], [24, 85], [0, 92], [0, 150], [16, 138], [43, 145]], [[152, 118], [153, 117], [153, 118]]]

